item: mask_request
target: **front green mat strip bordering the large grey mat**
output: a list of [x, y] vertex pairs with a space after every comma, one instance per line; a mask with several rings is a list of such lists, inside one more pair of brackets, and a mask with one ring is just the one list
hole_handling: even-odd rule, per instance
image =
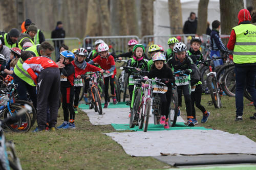
[[[135, 126], [134, 128], [130, 128], [129, 124], [111, 124], [115, 130], [118, 131], [124, 131], [124, 130], [131, 130], [131, 131], [143, 131], [143, 129], [139, 129], [138, 126]], [[164, 130], [184, 130], [184, 129], [199, 129], [199, 130], [212, 130], [212, 129], [206, 129], [204, 127], [188, 127], [184, 125], [182, 122], [176, 123], [176, 127], [170, 127], [169, 129], [164, 129], [163, 125], [154, 125], [154, 124], [148, 124], [147, 130], [148, 131], [164, 131]]]

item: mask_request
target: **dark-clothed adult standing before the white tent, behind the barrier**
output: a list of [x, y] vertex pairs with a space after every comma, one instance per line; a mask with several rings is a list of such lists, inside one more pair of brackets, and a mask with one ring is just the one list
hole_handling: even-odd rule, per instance
[[191, 12], [183, 27], [184, 34], [197, 33], [197, 17], [195, 12]]

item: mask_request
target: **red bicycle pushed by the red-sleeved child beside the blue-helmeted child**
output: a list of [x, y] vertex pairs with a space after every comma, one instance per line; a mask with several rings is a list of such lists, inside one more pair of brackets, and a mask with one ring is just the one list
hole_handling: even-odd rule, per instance
[[[87, 76], [90, 76], [87, 77]], [[102, 107], [101, 107], [101, 98], [98, 90], [98, 83], [97, 78], [99, 77], [99, 72], [92, 72], [90, 74], [81, 75], [82, 78], [88, 78], [89, 81], [89, 106], [90, 109], [94, 108], [95, 112], [102, 114]]]

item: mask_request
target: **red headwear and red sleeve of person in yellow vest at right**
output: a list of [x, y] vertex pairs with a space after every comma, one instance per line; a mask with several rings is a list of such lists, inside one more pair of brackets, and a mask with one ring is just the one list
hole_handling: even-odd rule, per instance
[[[241, 22], [243, 21], [250, 21], [251, 20], [251, 15], [250, 12], [247, 9], [242, 9], [239, 11], [238, 13], [238, 25], [240, 25]], [[227, 43], [227, 48], [229, 50], [234, 50], [234, 44], [236, 43], [236, 33], [234, 32], [234, 30], [232, 29], [231, 33], [230, 33], [230, 38], [229, 41]]]

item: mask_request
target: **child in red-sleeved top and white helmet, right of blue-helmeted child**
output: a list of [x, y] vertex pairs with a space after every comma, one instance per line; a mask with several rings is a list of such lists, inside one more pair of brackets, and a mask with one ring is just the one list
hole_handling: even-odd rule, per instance
[[[72, 61], [72, 64], [75, 68], [75, 80], [74, 80], [74, 88], [75, 88], [75, 99], [74, 99], [74, 111], [77, 113], [77, 107], [79, 102], [79, 94], [81, 91], [82, 84], [82, 77], [81, 75], [86, 74], [88, 71], [100, 71], [103, 73], [103, 70], [99, 67], [93, 66], [91, 64], [88, 64], [84, 59], [87, 57], [88, 52], [84, 48], [78, 48], [75, 54], [75, 60]], [[89, 81], [84, 81], [87, 87], [86, 92], [89, 87]]]

